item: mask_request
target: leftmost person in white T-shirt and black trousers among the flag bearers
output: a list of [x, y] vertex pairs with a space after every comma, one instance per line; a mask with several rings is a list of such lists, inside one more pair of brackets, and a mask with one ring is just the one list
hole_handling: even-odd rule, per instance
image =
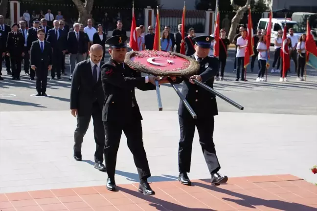
[[247, 31], [246, 29], [241, 30], [242, 36], [237, 39], [237, 61], [238, 61], [238, 66], [237, 66], [237, 78], [236, 81], [239, 81], [240, 79], [240, 66], [242, 65], [242, 71], [241, 71], [241, 81], [247, 81], [245, 79], [245, 71], [246, 69], [244, 68], [244, 58], [246, 54], [246, 47], [248, 43], [247, 39]]

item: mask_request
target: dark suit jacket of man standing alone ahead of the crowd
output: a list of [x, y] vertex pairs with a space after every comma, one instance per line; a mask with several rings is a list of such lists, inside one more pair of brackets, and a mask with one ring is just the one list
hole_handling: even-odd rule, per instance
[[45, 68], [48, 67], [48, 65], [52, 65], [53, 64], [52, 45], [49, 42], [44, 41], [44, 51], [42, 52], [40, 41], [37, 40], [32, 42], [30, 61], [31, 61], [31, 66], [35, 65], [37, 68], [41, 68], [43, 63]]

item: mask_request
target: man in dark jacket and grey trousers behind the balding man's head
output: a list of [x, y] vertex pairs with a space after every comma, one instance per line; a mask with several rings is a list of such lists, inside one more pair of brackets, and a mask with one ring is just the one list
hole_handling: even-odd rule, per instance
[[80, 24], [74, 23], [74, 31], [68, 32], [67, 51], [70, 60], [70, 78], [75, 69], [76, 63], [80, 63], [86, 57], [88, 51], [87, 37], [84, 32], [80, 31]]

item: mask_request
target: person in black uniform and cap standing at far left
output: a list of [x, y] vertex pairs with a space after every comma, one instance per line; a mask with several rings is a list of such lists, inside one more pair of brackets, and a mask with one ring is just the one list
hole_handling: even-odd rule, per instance
[[12, 80], [20, 80], [21, 62], [24, 57], [24, 37], [18, 31], [18, 23], [12, 25], [12, 31], [8, 34], [6, 51], [7, 56], [10, 57], [12, 68]]

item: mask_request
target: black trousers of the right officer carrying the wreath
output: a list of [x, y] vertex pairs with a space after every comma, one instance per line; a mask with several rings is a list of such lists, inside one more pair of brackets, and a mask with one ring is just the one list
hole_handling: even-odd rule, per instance
[[220, 169], [220, 164], [216, 155], [215, 144], [213, 142], [214, 118], [193, 119], [191, 117], [179, 116], [181, 139], [179, 143], [179, 171], [180, 173], [190, 171], [191, 152], [195, 127], [199, 134], [199, 143], [202, 146], [205, 161], [210, 174], [216, 173]]

